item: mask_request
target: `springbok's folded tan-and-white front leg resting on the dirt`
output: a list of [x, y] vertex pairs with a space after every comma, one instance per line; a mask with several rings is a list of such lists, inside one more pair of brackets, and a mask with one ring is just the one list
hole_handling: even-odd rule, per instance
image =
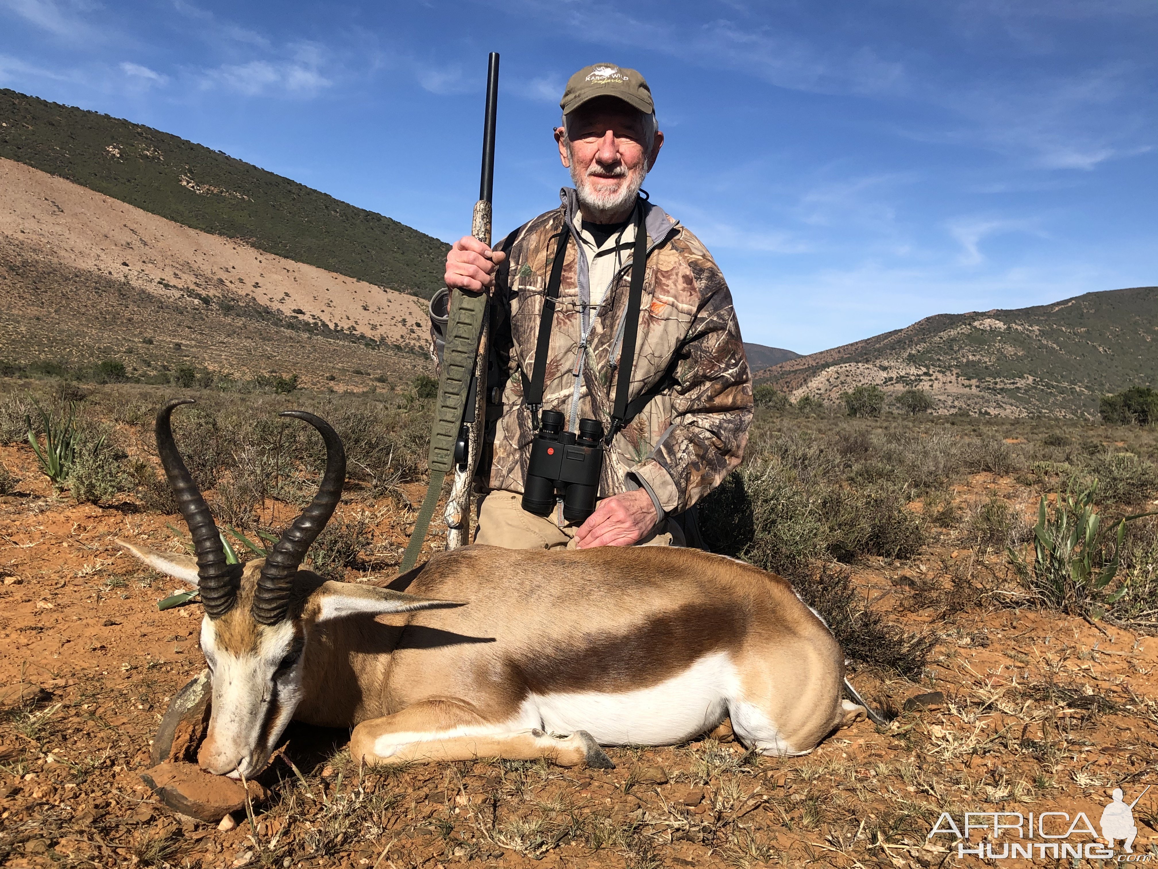
[[447, 700], [416, 703], [401, 713], [364, 721], [350, 737], [350, 755], [368, 765], [545, 758], [559, 766], [615, 766], [586, 731], [557, 737], [538, 729], [510, 730]]

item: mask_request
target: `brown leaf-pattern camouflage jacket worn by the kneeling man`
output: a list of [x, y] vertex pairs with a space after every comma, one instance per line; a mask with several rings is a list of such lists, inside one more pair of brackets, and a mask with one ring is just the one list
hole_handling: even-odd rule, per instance
[[[574, 190], [564, 189], [560, 199], [560, 207], [525, 224], [494, 246], [506, 251], [507, 261], [496, 280], [497, 304], [491, 306], [492, 358], [498, 377], [492, 367], [488, 392], [501, 397], [488, 409], [488, 448], [479, 467], [484, 489], [523, 489], [535, 431], [523, 401], [520, 370], [529, 380], [543, 297], [564, 221], [574, 233]], [[643, 487], [662, 518], [687, 510], [739, 465], [752, 422], [752, 374], [732, 294], [711, 254], [662, 209], [646, 202], [643, 207], [648, 254], [629, 400], [665, 377], [672, 385], [613, 440], [603, 462], [600, 497]], [[551, 329], [543, 408], [562, 411], [572, 431], [578, 418], [584, 417], [601, 421], [607, 430], [616, 386], [611, 359], [623, 337], [631, 268], [630, 262], [624, 264], [603, 302], [588, 314], [579, 412], [572, 419], [572, 372], [580, 346], [584, 301], [589, 298], [585, 286], [587, 269], [579, 273], [579, 247], [573, 234], [566, 247]]]

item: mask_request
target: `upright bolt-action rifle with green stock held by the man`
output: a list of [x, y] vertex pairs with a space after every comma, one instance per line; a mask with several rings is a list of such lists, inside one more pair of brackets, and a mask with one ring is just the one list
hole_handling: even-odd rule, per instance
[[[486, 70], [486, 110], [483, 125], [483, 168], [478, 202], [471, 219], [470, 234], [490, 247], [491, 196], [494, 187], [494, 122], [499, 96], [499, 56], [491, 52]], [[418, 561], [431, 517], [442, 491], [446, 475], [454, 468], [454, 482], [447, 497], [447, 549], [455, 549], [470, 539], [470, 487], [478, 467], [483, 431], [486, 428], [486, 353], [489, 345], [486, 292], [450, 291], [450, 309], [442, 349], [442, 373], [439, 378], [438, 403], [431, 431], [426, 465], [430, 483], [426, 497], [410, 535], [400, 572]]]

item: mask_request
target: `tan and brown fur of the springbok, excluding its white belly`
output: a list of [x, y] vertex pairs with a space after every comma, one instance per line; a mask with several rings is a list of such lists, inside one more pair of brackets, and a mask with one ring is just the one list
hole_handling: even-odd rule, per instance
[[[249, 615], [259, 564], [247, 565], [237, 603], [214, 622], [219, 649], [243, 653], [266, 630]], [[733, 716], [736, 735], [761, 751], [811, 751], [863, 714], [842, 703], [840, 647], [789, 583], [694, 549], [474, 546], [437, 554], [387, 587], [308, 571], [294, 582], [291, 618], [306, 640], [294, 717], [353, 726], [351, 753], [371, 764], [591, 761], [591, 737], [580, 731], [569, 742], [518, 726], [523, 702], [658, 689], [720, 655], [756, 721], [745, 731]], [[466, 605], [317, 621], [334, 611], [329, 596], [346, 608], [380, 599]], [[406, 733], [417, 736], [391, 742]], [[376, 745], [390, 751], [379, 754]]]

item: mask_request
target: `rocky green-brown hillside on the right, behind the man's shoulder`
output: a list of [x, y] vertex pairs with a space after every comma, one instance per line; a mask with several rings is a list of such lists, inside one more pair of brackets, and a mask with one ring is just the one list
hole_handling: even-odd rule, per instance
[[1098, 397], [1158, 382], [1158, 287], [1014, 311], [938, 314], [757, 374], [798, 399], [855, 386], [930, 390], [937, 412], [1093, 416]]

